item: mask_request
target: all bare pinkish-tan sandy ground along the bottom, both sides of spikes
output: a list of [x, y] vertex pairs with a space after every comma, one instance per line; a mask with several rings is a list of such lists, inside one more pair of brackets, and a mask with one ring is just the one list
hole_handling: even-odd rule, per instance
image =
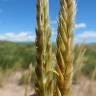
[[[0, 88], [0, 96], [24, 96], [25, 88], [18, 84], [20, 78], [20, 72], [9, 77], [7, 83]], [[96, 81], [89, 81], [86, 78], [80, 81], [80, 84], [73, 85], [73, 96], [96, 96]], [[28, 93], [28, 96], [32, 94], [30, 90]]]

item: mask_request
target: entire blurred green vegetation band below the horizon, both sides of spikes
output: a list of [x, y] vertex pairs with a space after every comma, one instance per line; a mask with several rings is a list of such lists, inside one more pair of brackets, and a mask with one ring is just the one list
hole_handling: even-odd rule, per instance
[[[96, 44], [84, 46], [86, 61], [82, 72], [90, 77], [96, 68]], [[53, 44], [53, 52], [55, 53], [55, 44]], [[0, 69], [27, 69], [30, 63], [36, 64], [35, 54], [34, 43], [0, 42]]]

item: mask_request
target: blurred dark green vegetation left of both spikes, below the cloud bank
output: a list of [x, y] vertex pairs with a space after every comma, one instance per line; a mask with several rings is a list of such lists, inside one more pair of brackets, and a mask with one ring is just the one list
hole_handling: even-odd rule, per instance
[[35, 64], [35, 46], [33, 43], [0, 42], [0, 67], [28, 68]]

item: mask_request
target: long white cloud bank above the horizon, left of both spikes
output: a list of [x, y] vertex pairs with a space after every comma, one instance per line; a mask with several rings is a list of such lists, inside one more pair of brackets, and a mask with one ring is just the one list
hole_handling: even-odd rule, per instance
[[4, 34], [0, 34], [0, 40], [4, 41], [13, 41], [13, 42], [27, 42], [27, 41], [35, 41], [35, 34], [31, 32], [8, 32]]

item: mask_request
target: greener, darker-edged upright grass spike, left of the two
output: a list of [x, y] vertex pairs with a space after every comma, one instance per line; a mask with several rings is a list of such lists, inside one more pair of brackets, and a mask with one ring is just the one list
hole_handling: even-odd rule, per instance
[[35, 91], [38, 96], [52, 96], [53, 94], [50, 39], [49, 0], [37, 0]]

